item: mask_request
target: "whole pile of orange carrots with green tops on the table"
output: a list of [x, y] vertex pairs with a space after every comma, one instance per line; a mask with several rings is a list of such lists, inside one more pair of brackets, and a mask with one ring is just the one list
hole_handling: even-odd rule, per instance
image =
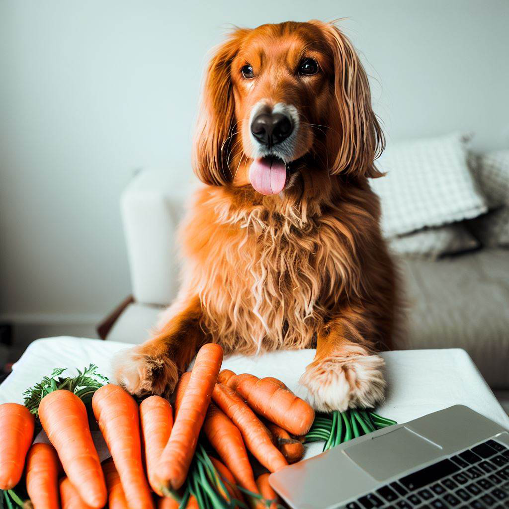
[[[317, 426], [313, 408], [275, 378], [220, 371], [222, 358], [204, 345], [173, 406], [157, 395], [138, 404], [95, 366], [74, 379], [55, 370], [27, 391], [26, 406], [0, 405], [0, 504], [275, 509], [269, 473], [302, 458], [306, 434], [337, 427]], [[39, 422], [49, 443], [32, 444]], [[89, 422], [111, 454], [102, 464]]]

